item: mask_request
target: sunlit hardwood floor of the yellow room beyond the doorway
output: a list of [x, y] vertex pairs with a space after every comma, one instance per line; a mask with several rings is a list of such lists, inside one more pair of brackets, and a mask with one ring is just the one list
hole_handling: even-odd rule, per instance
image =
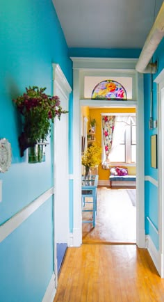
[[[97, 217], [92, 223], [83, 223], [83, 244], [136, 243], [136, 207], [126, 189], [97, 189]], [[136, 192], [135, 189], [131, 190]], [[92, 205], [85, 205], [92, 207]], [[83, 220], [92, 218], [91, 212], [83, 212]]]

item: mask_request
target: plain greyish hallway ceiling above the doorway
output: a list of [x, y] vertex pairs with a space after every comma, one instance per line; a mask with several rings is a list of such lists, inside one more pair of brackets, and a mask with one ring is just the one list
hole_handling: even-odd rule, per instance
[[142, 48], [163, 0], [53, 0], [68, 47]]

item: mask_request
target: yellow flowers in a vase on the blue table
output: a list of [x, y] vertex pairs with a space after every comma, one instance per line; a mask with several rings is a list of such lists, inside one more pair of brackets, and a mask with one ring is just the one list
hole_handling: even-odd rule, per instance
[[89, 177], [90, 168], [94, 168], [101, 163], [100, 154], [101, 148], [96, 143], [92, 143], [83, 153], [81, 164], [85, 166], [85, 180]]

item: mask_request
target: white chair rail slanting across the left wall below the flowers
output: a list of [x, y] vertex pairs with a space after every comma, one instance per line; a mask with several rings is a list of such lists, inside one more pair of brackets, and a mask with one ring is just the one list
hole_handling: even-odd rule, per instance
[[11, 217], [6, 223], [0, 226], [0, 242], [19, 227], [33, 212], [35, 212], [45, 201], [53, 195], [53, 188], [44, 192], [41, 196], [33, 200], [29, 205]]

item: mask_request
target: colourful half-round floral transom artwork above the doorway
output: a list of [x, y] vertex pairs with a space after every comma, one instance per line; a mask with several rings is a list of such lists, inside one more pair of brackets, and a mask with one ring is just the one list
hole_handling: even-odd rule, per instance
[[127, 94], [122, 84], [113, 80], [101, 81], [92, 90], [92, 100], [127, 100]]

